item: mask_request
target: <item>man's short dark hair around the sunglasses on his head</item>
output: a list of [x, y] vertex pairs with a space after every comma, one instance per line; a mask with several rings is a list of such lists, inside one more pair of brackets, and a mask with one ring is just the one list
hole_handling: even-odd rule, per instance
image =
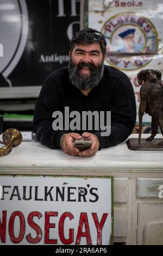
[[[101, 51], [102, 51], [102, 54], [103, 54], [103, 57], [106, 53], [106, 41], [105, 41], [105, 38], [104, 38], [104, 35], [97, 31], [96, 29], [92, 29], [92, 28], [85, 28], [85, 29], [82, 29], [81, 31], [79, 31], [78, 33], [83, 33], [83, 32], [86, 32], [87, 34], [83, 35], [82, 37], [80, 38], [77, 38], [77, 35], [75, 34], [73, 36], [73, 38], [71, 39], [71, 42], [70, 42], [70, 52], [73, 51], [73, 48], [74, 46], [77, 44], [93, 44], [93, 43], [97, 43], [99, 42], [100, 46], [101, 46]], [[89, 36], [89, 33], [100, 33], [102, 36], [101, 36], [101, 40], [99, 41], [95, 41], [95, 40], [92, 40]]]

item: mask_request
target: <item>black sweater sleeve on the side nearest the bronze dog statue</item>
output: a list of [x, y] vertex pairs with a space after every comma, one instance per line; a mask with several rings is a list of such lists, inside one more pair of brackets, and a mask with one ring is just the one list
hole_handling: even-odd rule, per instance
[[101, 131], [96, 131], [100, 141], [100, 148], [109, 148], [123, 142], [131, 134], [136, 121], [136, 102], [134, 90], [129, 78], [126, 76], [126, 84], [116, 82], [115, 91], [112, 95], [111, 133], [110, 136], [101, 136]]

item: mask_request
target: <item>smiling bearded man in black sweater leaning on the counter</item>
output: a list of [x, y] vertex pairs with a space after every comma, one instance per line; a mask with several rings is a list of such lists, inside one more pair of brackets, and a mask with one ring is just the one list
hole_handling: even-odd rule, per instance
[[[104, 65], [106, 41], [96, 29], [86, 28], [77, 32], [70, 43], [68, 67], [49, 75], [43, 83], [34, 113], [34, 132], [43, 145], [62, 149], [74, 156], [92, 156], [98, 150], [123, 142], [131, 134], [136, 121], [136, 104], [133, 86], [120, 70]], [[53, 129], [54, 113], [63, 113], [65, 107], [80, 113], [76, 129], [67, 125]], [[111, 112], [111, 133], [102, 136], [96, 118], [90, 127], [79, 127], [84, 112]], [[68, 117], [69, 118], [69, 117]], [[61, 122], [62, 123], [62, 122]], [[106, 120], [104, 121], [106, 123]], [[89, 149], [74, 147], [76, 139], [92, 141]]]

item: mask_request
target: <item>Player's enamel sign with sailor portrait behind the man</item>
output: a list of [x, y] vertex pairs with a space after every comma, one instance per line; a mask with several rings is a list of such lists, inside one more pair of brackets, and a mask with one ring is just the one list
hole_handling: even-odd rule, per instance
[[[89, 27], [107, 42], [105, 64], [122, 70], [133, 84], [137, 113], [142, 69], [163, 71], [162, 0], [89, 1]], [[137, 117], [138, 121], [138, 117]], [[148, 114], [143, 121], [151, 121]]]

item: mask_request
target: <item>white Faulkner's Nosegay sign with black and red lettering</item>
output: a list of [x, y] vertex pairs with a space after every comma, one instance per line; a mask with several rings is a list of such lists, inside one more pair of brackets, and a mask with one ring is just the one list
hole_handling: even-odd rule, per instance
[[109, 245], [112, 178], [0, 176], [1, 245]]

